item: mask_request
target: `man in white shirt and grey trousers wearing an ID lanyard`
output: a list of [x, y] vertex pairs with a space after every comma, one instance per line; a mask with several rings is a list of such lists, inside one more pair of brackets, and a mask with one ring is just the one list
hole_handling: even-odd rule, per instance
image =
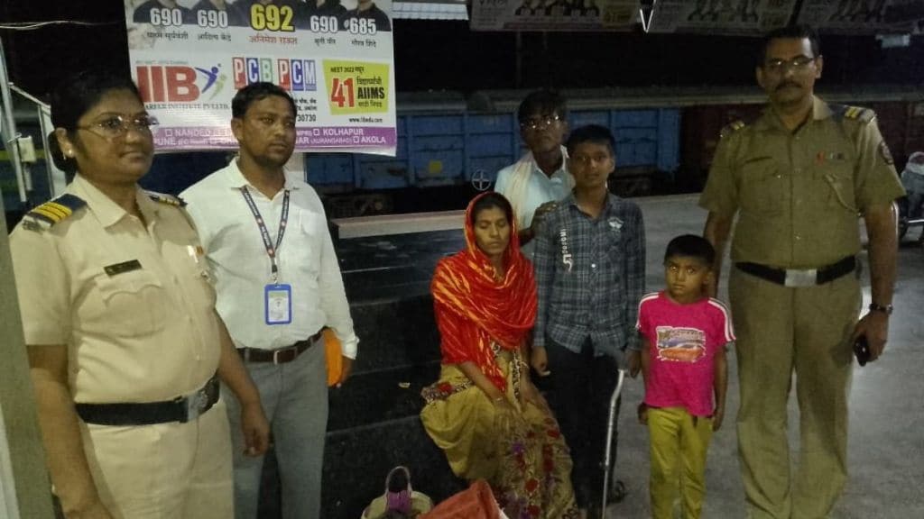
[[[283, 518], [316, 519], [327, 427], [321, 332], [330, 327], [342, 344], [341, 383], [359, 340], [321, 199], [284, 169], [295, 148], [295, 103], [272, 83], [254, 83], [231, 106], [237, 159], [181, 196], [214, 276], [215, 306], [271, 423]], [[237, 400], [224, 387], [222, 397], [239, 430]], [[232, 441], [236, 516], [256, 519], [263, 459], [243, 456], [239, 434]]]

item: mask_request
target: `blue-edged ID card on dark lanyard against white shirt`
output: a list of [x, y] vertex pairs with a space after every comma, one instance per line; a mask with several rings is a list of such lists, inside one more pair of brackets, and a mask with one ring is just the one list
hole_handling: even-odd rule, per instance
[[270, 239], [270, 231], [263, 222], [260, 210], [256, 202], [250, 196], [247, 186], [240, 188], [241, 194], [247, 201], [253, 218], [257, 221], [260, 228], [260, 235], [263, 240], [263, 247], [266, 247], [266, 255], [270, 257], [270, 277], [271, 282], [263, 287], [263, 320], [266, 324], [288, 324], [292, 322], [292, 286], [290, 284], [279, 283], [279, 262], [277, 253], [283, 243], [283, 236], [286, 235], [286, 223], [288, 223], [289, 191], [286, 189], [283, 194], [283, 214], [279, 220], [279, 231], [276, 233], [276, 242]]

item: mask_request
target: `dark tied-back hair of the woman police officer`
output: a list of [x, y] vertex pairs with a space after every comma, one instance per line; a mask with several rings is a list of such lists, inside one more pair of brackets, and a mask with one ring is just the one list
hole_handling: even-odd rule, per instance
[[[130, 91], [143, 103], [131, 78], [107, 70], [83, 70], [65, 78], [52, 92], [52, 125], [66, 129], [67, 135], [73, 139], [80, 117], [96, 106], [109, 91]], [[68, 174], [77, 171], [77, 161], [61, 151], [55, 132], [48, 136], [48, 153], [58, 169]]]

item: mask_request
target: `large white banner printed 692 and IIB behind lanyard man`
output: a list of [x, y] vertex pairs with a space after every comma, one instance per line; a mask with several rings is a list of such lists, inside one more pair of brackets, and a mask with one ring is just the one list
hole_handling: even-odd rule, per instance
[[392, 0], [126, 0], [128, 56], [159, 151], [237, 148], [231, 99], [269, 81], [297, 151], [395, 155]]

